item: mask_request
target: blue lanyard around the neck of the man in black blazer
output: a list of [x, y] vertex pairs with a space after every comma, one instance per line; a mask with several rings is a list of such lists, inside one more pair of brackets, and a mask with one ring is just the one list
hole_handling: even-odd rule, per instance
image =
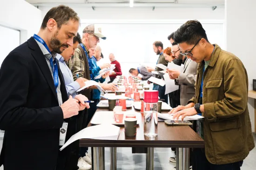
[[[37, 41], [39, 41], [41, 44], [43, 44], [43, 46], [47, 49], [47, 51], [52, 55], [51, 51], [49, 50], [47, 44], [45, 43], [45, 41], [40, 38], [38, 35], [34, 34], [33, 38]], [[57, 61], [56, 59], [53, 61], [53, 57], [50, 58], [50, 65], [53, 71], [53, 76], [54, 76], [54, 86], [56, 89], [56, 93], [57, 93], [57, 87], [59, 85], [59, 75], [58, 75], [58, 65], [57, 65]]]

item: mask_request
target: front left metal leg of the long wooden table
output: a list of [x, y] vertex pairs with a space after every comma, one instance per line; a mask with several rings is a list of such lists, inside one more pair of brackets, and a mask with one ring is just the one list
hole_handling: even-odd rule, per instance
[[94, 147], [93, 154], [94, 170], [105, 170], [105, 148]]

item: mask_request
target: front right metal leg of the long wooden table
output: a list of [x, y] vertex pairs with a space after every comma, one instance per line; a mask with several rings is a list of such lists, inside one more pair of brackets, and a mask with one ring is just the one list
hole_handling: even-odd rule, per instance
[[176, 148], [176, 170], [189, 170], [189, 148]]

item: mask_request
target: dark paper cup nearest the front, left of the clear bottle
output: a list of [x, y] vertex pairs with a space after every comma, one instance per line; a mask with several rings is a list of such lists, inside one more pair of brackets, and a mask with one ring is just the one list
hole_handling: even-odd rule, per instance
[[127, 137], [135, 137], [137, 129], [137, 119], [136, 118], [126, 118], [124, 120], [124, 133]]

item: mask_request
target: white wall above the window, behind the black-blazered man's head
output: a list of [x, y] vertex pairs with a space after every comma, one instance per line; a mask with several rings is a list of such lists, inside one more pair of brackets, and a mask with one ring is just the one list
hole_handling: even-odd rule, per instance
[[0, 0], [0, 25], [20, 30], [20, 43], [39, 31], [41, 18], [41, 11], [25, 0]]

